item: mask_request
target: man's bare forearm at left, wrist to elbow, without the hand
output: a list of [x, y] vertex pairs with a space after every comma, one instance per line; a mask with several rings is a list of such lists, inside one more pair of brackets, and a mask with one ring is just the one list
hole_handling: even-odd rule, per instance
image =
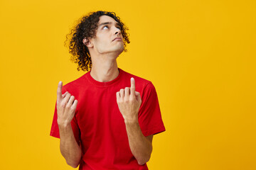
[[82, 157], [82, 151], [75, 140], [71, 124], [58, 125], [60, 130], [60, 152], [68, 165], [78, 167]]

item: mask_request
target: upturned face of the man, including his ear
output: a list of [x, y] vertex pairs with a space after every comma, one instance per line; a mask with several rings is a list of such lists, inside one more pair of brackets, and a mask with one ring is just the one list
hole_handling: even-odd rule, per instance
[[119, 23], [110, 16], [100, 16], [95, 38], [90, 41], [92, 50], [100, 54], [121, 54], [124, 42]]

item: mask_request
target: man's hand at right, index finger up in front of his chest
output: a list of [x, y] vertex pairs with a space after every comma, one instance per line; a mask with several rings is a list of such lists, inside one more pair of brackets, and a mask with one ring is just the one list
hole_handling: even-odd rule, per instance
[[135, 91], [135, 80], [131, 78], [131, 87], [117, 91], [117, 105], [124, 120], [137, 121], [141, 104], [142, 98], [139, 92]]

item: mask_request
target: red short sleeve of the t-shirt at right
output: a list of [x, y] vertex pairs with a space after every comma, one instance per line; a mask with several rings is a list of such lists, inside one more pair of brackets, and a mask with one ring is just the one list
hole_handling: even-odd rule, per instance
[[165, 131], [156, 89], [151, 81], [144, 88], [138, 119], [144, 136], [156, 135]]

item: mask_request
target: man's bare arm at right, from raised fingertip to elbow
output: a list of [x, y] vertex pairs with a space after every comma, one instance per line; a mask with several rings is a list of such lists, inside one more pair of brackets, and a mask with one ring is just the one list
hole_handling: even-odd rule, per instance
[[153, 135], [145, 137], [139, 127], [138, 113], [141, 104], [142, 98], [139, 92], [135, 91], [135, 81], [132, 78], [131, 88], [126, 87], [117, 91], [117, 105], [124, 118], [129, 147], [140, 165], [149, 161], [153, 139]]

